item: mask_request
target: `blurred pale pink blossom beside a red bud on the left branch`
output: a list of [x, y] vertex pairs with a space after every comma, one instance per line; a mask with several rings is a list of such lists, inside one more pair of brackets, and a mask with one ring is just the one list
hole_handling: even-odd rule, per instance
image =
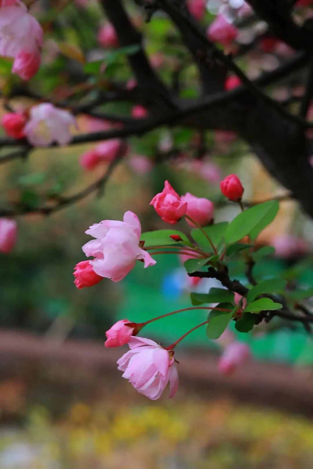
[[71, 126], [76, 126], [71, 113], [42, 103], [31, 108], [30, 120], [24, 130], [27, 140], [34, 146], [48, 146], [53, 142], [65, 145], [72, 138]]

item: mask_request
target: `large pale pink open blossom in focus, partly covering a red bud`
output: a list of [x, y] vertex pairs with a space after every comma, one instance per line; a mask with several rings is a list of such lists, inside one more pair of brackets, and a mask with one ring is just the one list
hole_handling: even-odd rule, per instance
[[122, 280], [135, 266], [136, 260], [142, 260], [144, 267], [155, 265], [150, 254], [141, 249], [140, 221], [133, 212], [125, 212], [123, 221], [103, 220], [95, 223], [87, 231], [95, 239], [83, 246], [94, 272], [114, 282]]

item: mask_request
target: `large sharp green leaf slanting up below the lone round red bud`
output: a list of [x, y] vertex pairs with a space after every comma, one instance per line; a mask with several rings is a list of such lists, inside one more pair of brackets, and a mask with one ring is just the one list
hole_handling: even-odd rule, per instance
[[226, 228], [225, 242], [237, 242], [249, 233], [253, 233], [254, 236], [256, 233], [259, 234], [263, 228], [273, 221], [278, 208], [277, 200], [269, 200], [239, 213]]

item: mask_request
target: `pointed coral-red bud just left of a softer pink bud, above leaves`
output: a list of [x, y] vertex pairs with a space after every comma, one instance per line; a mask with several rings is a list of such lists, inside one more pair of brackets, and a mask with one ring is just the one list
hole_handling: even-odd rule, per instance
[[165, 181], [164, 189], [153, 197], [150, 205], [153, 205], [163, 221], [171, 224], [177, 223], [187, 210], [187, 203], [182, 202], [168, 181]]

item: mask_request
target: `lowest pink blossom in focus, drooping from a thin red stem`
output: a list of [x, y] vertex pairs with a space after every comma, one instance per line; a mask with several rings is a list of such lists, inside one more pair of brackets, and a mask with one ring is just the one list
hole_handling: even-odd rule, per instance
[[130, 337], [130, 350], [118, 361], [118, 370], [123, 378], [141, 394], [155, 401], [169, 382], [169, 398], [174, 397], [178, 388], [178, 372], [173, 354], [153, 340], [144, 337]]

